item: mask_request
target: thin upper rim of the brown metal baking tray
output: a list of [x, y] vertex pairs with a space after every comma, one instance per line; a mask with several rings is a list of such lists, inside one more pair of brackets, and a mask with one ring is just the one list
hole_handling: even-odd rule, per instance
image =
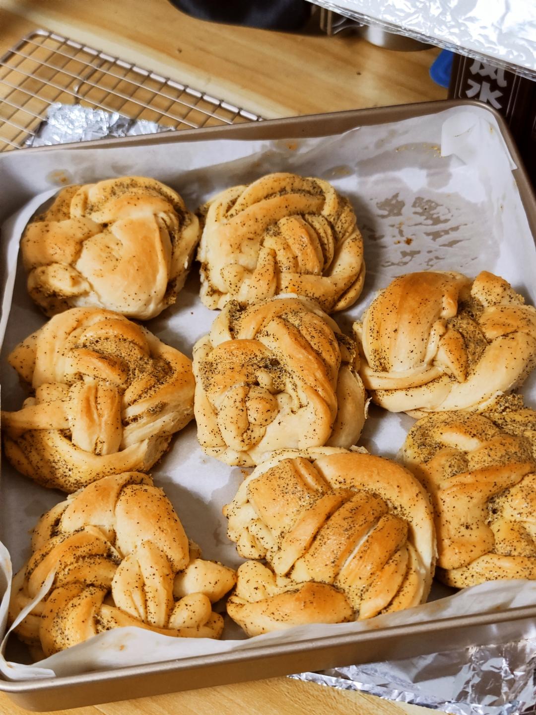
[[[295, 136], [316, 136], [320, 137], [323, 135], [338, 133], [346, 131], [353, 127], [365, 126], [368, 124], [385, 124], [388, 122], [396, 122], [397, 120], [402, 121], [403, 119], [408, 119], [410, 117], [420, 117], [426, 116], [428, 114], [435, 114], [444, 111], [445, 109], [450, 109], [451, 107], [477, 107], [478, 109], [484, 109], [490, 112], [493, 117], [497, 120], [499, 124], [500, 131], [507, 149], [509, 150], [513, 161], [515, 162], [517, 169], [514, 169], [512, 174], [515, 177], [517, 188], [520, 192], [520, 197], [522, 200], [523, 207], [527, 213], [527, 221], [532, 232], [532, 236], [536, 243], [536, 197], [532, 192], [530, 187], [529, 179], [527, 178], [527, 173], [522, 164], [522, 159], [520, 159], [517, 147], [512, 140], [505, 120], [501, 115], [496, 112], [491, 107], [488, 107], [481, 102], [475, 102], [474, 100], [444, 100], [440, 102], [421, 102], [418, 104], [401, 104], [392, 107], [379, 107], [371, 109], [355, 109], [347, 110], [345, 112], [331, 112], [326, 114], [310, 114], [304, 115], [303, 117], [288, 117], [284, 119], [272, 119], [263, 122], [255, 122], [251, 124], [236, 124], [230, 125], [228, 127], [211, 127], [208, 129], [192, 129], [192, 130], [178, 130], [175, 132], [165, 132], [163, 134], [153, 134], [145, 135], [139, 137], [128, 137], [126, 139], [98, 139], [95, 141], [73, 144], [63, 144], [61, 146], [55, 145], [51, 147], [35, 147], [24, 149], [25, 154], [27, 152], [42, 152], [50, 149], [91, 149], [91, 148], [106, 148], [106, 147], [119, 147], [126, 145], [138, 145], [138, 144], [160, 144], [162, 142], [183, 142], [195, 139], [196, 141], [203, 141], [205, 139], [284, 139], [291, 138]], [[363, 119], [365, 121], [360, 122]], [[340, 126], [333, 127], [333, 124], [343, 124], [344, 128]], [[288, 134], [290, 129], [291, 134]], [[308, 132], [308, 129], [313, 129], [313, 132]], [[272, 130], [272, 131], [270, 131]], [[298, 134], [293, 134], [293, 132], [298, 131]], [[246, 134], [246, 137], [243, 135]], [[241, 136], [238, 136], [241, 135]], [[248, 136], [250, 135], [250, 136]], [[29, 681], [9, 681], [0, 676], [0, 691], [5, 691], [6, 694], [26, 694], [31, 699], [31, 694], [36, 694], [39, 699], [39, 695], [46, 694], [47, 691], [63, 689], [70, 685], [76, 684], [79, 686], [90, 686], [91, 684], [103, 684], [107, 682], [109, 685], [113, 684], [113, 681], [121, 681], [122, 679], [128, 679], [133, 676], [150, 676], [151, 674], [163, 672], [173, 672], [173, 671], [184, 671], [188, 669], [198, 669], [200, 667], [210, 668], [214, 664], [221, 663], [225, 661], [228, 664], [233, 662], [242, 663], [243, 661], [252, 661], [259, 658], [268, 658], [270, 656], [280, 656], [290, 654], [302, 654], [306, 651], [318, 651], [320, 649], [333, 649], [336, 647], [342, 648], [348, 644], [353, 644], [358, 646], [360, 642], [380, 640], [385, 637], [386, 634], [392, 634], [393, 638], [404, 638], [408, 636], [425, 636], [427, 633], [433, 633], [436, 630], [440, 630], [441, 626], [447, 627], [449, 629], [462, 629], [469, 628], [471, 626], [489, 626], [497, 625], [498, 623], [508, 623], [513, 621], [522, 621], [528, 618], [536, 618], [536, 605], [531, 607], [522, 608], [509, 608], [500, 613], [482, 613], [477, 616], [470, 614], [467, 616], [452, 616], [450, 618], [441, 618], [437, 621], [428, 621], [422, 623], [410, 623], [408, 625], [391, 626], [390, 628], [378, 628], [378, 630], [373, 631], [363, 631], [363, 633], [357, 633], [348, 636], [325, 636], [322, 638], [311, 638], [308, 641], [298, 641], [297, 643], [279, 644], [276, 646], [266, 645], [266, 646], [255, 646], [248, 649], [243, 649], [238, 651], [238, 653], [228, 653], [228, 654], [215, 654], [208, 656], [193, 656], [186, 657], [183, 659], [173, 659], [171, 661], [158, 661], [154, 664], [143, 664], [138, 666], [124, 666], [118, 669], [106, 670], [106, 671], [90, 671], [89, 673], [76, 674], [72, 676], [56, 676], [54, 678], [29, 680]], [[314, 644], [311, 646], [311, 644]], [[456, 646], [454, 646], [456, 647]], [[430, 650], [430, 652], [432, 652]], [[267, 676], [270, 674], [268, 673]], [[241, 680], [247, 678], [240, 678]], [[238, 679], [237, 679], [238, 680]], [[231, 682], [231, 681], [227, 681]], [[211, 683], [207, 683], [211, 685]], [[200, 686], [195, 686], [200, 687]], [[171, 683], [168, 692], [178, 690], [179, 688], [173, 687]], [[187, 689], [187, 688], [181, 688]], [[150, 689], [149, 689], [150, 690]], [[151, 694], [151, 691], [147, 693]], [[116, 699], [124, 699], [128, 694], [118, 694]], [[103, 702], [99, 700], [98, 702]], [[86, 704], [81, 702], [80, 706]], [[26, 705], [24, 705], [26, 706]], [[39, 704], [38, 704], [39, 706]], [[48, 706], [48, 704], [47, 704]], [[31, 707], [36, 707], [35, 702], [31, 702]]]

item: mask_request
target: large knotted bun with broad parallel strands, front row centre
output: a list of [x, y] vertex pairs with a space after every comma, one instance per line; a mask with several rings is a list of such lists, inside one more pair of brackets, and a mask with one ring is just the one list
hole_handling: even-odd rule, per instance
[[228, 613], [252, 636], [370, 618], [423, 603], [435, 566], [433, 514], [400, 465], [335, 448], [281, 450], [223, 508], [248, 561]]

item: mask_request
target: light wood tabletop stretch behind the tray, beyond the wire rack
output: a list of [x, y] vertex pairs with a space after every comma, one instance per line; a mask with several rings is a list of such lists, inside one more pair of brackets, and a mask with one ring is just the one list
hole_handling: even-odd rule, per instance
[[167, 0], [0, 0], [0, 54], [43, 27], [191, 84], [266, 119], [445, 99], [438, 49], [393, 52], [353, 36], [193, 19]]

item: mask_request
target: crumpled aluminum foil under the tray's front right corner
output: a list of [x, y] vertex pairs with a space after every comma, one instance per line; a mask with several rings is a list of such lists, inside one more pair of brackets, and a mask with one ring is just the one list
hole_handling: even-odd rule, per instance
[[535, 667], [536, 641], [525, 640], [290, 677], [452, 715], [529, 715]]

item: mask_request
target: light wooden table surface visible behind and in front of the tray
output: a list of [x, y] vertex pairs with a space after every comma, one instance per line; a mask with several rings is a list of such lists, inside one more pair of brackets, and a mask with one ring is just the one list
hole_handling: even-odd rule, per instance
[[[287, 34], [192, 19], [166, 0], [0, 0], [0, 56], [41, 27], [266, 118], [445, 99], [438, 49], [393, 52], [354, 36]], [[54, 703], [49, 704], [54, 709]], [[276, 678], [59, 711], [76, 715], [425, 715], [353, 691]], [[0, 693], [0, 715], [24, 713]]]

